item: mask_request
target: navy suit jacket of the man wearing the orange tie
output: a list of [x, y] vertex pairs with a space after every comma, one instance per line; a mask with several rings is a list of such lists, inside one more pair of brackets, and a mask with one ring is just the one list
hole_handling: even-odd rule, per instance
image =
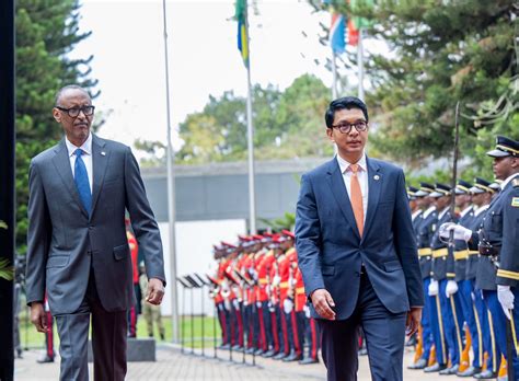
[[[368, 209], [362, 239], [336, 158], [303, 174], [296, 215], [296, 247], [308, 296], [324, 288], [337, 320], [355, 310], [360, 267], [385, 305], [400, 313], [424, 305], [422, 276], [404, 173], [367, 159]], [[312, 315], [320, 318], [312, 307]]]

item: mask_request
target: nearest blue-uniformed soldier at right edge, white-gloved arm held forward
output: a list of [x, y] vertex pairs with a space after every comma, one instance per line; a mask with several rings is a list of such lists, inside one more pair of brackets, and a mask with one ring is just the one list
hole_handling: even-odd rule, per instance
[[[483, 289], [484, 300], [491, 312], [489, 323], [495, 337], [495, 358], [497, 359], [500, 357], [499, 351], [505, 357], [507, 356], [506, 320], [508, 318], [514, 323], [511, 340], [517, 346], [514, 327], [519, 322], [519, 311], [514, 308], [514, 299], [517, 295], [517, 279], [519, 279], [517, 272], [519, 265], [517, 255], [519, 247], [519, 142], [499, 136], [496, 149], [487, 154], [494, 158], [494, 174], [501, 181], [501, 192], [492, 200], [478, 231], [481, 256], [476, 287]], [[477, 239], [476, 232], [460, 226], [451, 226], [448, 230], [454, 231], [455, 239], [465, 241]], [[516, 350], [512, 358], [507, 360], [514, 363], [515, 372], [519, 374]], [[476, 378], [486, 379], [487, 377], [482, 377], [480, 373]]]

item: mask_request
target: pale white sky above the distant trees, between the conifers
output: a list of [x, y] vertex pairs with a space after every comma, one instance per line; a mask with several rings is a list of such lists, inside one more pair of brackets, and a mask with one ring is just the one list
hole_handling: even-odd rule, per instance
[[[250, 5], [252, 82], [284, 90], [299, 76], [313, 73], [330, 86], [332, 74], [314, 62], [331, 55], [319, 42], [320, 22], [327, 25], [330, 14], [313, 13], [298, 0], [258, 0], [256, 9], [258, 14]], [[233, 90], [246, 95], [246, 71], [237, 48], [233, 0], [170, 0], [166, 10], [171, 126], [176, 131], [210, 94]], [[165, 142], [162, 1], [83, 0], [80, 12], [80, 31], [92, 35], [71, 56], [94, 56], [91, 76], [101, 90], [94, 104], [106, 116], [99, 134], [129, 146], [136, 139]], [[173, 146], [181, 145], [174, 134]]]

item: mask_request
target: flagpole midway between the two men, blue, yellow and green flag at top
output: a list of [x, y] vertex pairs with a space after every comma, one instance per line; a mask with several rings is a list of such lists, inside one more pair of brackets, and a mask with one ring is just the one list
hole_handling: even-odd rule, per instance
[[252, 124], [252, 85], [251, 85], [251, 45], [249, 39], [249, 11], [245, 0], [245, 30], [249, 60], [246, 66], [247, 96], [246, 96], [246, 131], [249, 152], [249, 230], [256, 233], [256, 195], [254, 185], [254, 127]]

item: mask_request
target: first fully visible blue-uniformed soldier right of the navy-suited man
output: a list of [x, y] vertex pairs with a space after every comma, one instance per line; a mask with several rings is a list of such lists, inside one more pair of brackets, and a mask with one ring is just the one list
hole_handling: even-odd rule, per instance
[[[445, 184], [436, 184], [435, 192], [430, 194], [435, 197], [438, 208], [437, 227], [452, 222], [453, 216], [449, 211], [449, 205], [452, 197], [451, 188]], [[447, 343], [447, 351], [442, 356], [451, 361], [451, 367], [447, 368], [447, 361], [443, 369], [437, 369], [440, 374], [455, 374], [460, 367], [460, 353], [462, 348], [462, 324], [461, 305], [458, 298], [452, 297], [458, 292], [458, 284], [454, 280], [454, 253], [447, 247], [447, 241], [440, 238], [439, 230], [435, 229], [435, 234], [430, 242], [432, 250], [432, 280], [429, 285], [429, 295], [437, 295], [439, 298], [439, 315], [441, 319], [440, 331], [443, 333]], [[452, 298], [451, 298], [452, 297]], [[437, 350], [438, 354], [438, 350]], [[430, 368], [425, 369], [426, 372], [431, 371]], [[436, 370], [435, 370], [436, 371]]]

